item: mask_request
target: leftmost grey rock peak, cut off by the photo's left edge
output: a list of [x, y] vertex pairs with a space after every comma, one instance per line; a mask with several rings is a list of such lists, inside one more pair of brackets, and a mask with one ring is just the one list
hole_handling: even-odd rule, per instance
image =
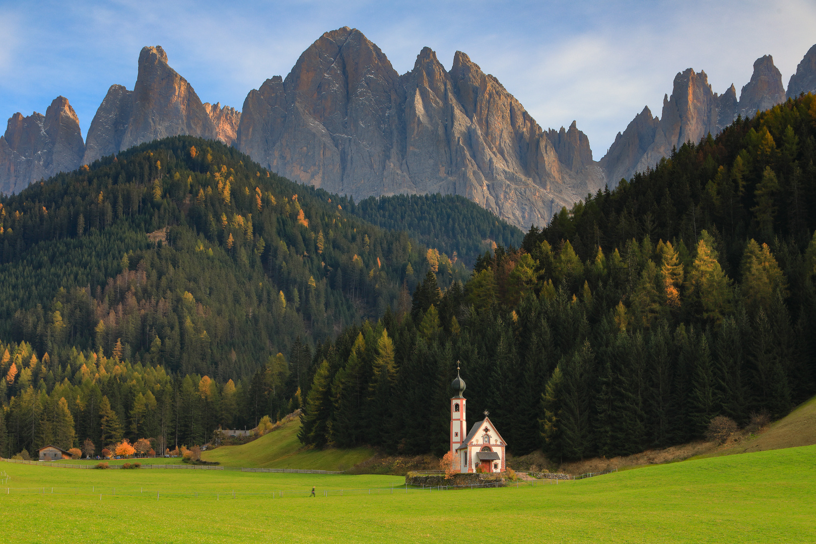
[[64, 96], [45, 116], [15, 113], [0, 136], [0, 192], [20, 192], [38, 179], [82, 165], [85, 143], [77, 114]]

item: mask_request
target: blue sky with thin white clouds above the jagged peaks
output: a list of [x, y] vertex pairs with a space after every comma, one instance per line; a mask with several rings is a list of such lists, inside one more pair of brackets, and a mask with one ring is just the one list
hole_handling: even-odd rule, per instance
[[737, 94], [754, 60], [773, 55], [787, 87], [816, 43], [816, 1], [503, 2], [344, 0], [196, 2], [0, 0], [0, 118], [45, 113], [63, 95], [86, 135], [109, 86], [132, 89], [142, 46], [205, 102], [242, 108], [286, 77], [322, 33], [359, 29], [398, 73], [423, 46], [447, 69], [464, 51], [544, 130], [574, 120], [600, 159], [645, 105], [661, 115], [676, 73], [704, 70]]

